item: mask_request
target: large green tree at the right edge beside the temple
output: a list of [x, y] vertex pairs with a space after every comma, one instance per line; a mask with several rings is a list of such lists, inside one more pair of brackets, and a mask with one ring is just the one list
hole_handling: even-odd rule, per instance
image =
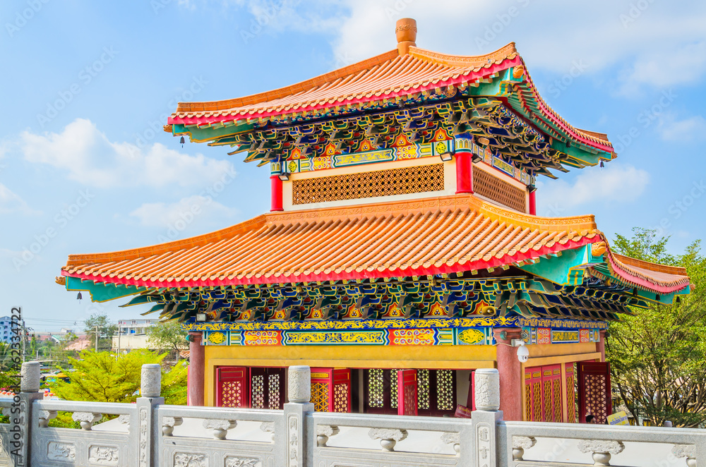
[[673, 305], [634, 308], [610, 325], [606, 353], [614, 387], [633, 416], [662, 425], [696, 427], [706, 423], [706, 258], [700, 241], [682, 255], [666, 251], [669, 237], [633, 229], [618, 236], [616, 253], [686, 268], [694, 286]]

